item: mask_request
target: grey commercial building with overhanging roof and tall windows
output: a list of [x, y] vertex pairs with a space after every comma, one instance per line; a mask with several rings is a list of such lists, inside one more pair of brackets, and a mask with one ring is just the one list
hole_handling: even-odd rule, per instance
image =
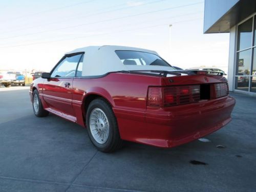
[[229, 90], [256, 96], [256, 1], [205, 0], [204, 33], [230, 33]]

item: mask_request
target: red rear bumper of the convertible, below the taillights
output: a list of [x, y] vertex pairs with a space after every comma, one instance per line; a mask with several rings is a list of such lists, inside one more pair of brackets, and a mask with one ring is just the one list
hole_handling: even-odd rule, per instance
[[[120, 113], [120, 110], [115, 109], [114, 112], [122, 139], [159, 147], [173, 147], [225, 126], [231, 121], [230, 115], [235, 102], [232, 97], [223, 97], [168, 108], [150, 108], [144, 112], [144, 120], [141, 112]], [[136, 113], [138, 117], [134, 116]]]

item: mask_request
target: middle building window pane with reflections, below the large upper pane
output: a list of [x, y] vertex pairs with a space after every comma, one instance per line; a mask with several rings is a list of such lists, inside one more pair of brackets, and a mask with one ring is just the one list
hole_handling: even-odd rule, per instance
[[[237, 75], [250, 75], [251, 50], [241, 51], [237, 57]], [[240, 73], [240, 74], [239, 74]]]

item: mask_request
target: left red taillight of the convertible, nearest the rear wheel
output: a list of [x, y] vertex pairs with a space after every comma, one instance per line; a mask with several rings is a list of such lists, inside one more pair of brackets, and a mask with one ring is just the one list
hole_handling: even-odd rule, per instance
[[148, 88], [148, 106], [174, 106], [200, 100], [200, 85], [150, 87]]

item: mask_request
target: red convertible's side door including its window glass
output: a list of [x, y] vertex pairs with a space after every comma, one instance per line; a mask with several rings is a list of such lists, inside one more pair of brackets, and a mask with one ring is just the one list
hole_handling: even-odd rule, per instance
[[75, 116], [72, 108], [72, 86], [73, 78], [76, 74], [77, 65], [83, 53], [66, 55], [55, 66], [51, 72], [51, 77], [44, 83], [42, 91], [43, 98], [50, 110], [60, 116]]

